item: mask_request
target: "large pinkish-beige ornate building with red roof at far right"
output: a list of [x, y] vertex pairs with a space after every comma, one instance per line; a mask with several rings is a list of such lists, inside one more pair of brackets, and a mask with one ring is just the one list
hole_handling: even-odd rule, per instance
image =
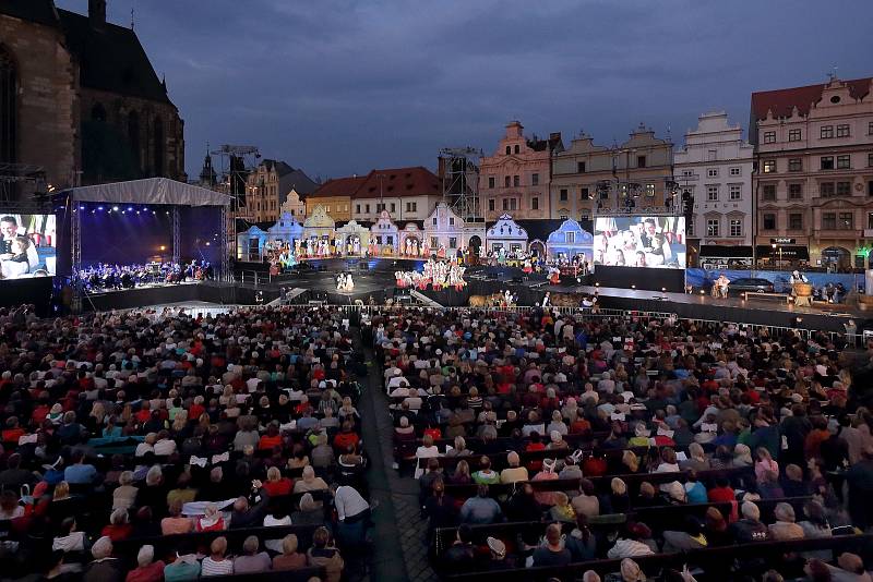
[[832, 77], [752, 94], [758, 260], [848, 268], [873, 243], [872, 88]]

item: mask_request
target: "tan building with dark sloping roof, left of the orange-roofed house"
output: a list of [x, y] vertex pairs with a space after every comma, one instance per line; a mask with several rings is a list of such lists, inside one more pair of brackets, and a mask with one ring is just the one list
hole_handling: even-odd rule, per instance
[[291, 168], [284, 161], [262, 160], [246, 178], [246, 204], [240, 208], [240, 215], [251, 222], [275, 221], [290, 195], [296, 197], [297, 204], [292, 198], [289, 206], [299, 210], [300, 195], [306, 197], [316, 187], [318, 184], [303, 170]]

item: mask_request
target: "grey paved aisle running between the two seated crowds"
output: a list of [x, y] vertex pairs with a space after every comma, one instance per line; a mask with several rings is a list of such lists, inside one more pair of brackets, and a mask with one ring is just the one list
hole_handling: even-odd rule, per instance
[[436, 581], [424, 545], [426, 522], [418, 508], [418, 482], [392, 469], [394, 426], [382, 389], [380, 368], [366, 349], [369, 376], [361, 398], [364, 448], [370, 458], [370, 495], [379, 501], [373, 512], [375, 534], [371, 579]]

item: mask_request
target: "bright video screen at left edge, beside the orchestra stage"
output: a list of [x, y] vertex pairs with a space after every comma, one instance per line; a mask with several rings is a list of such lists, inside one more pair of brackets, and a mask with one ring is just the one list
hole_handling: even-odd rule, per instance
[[0, 278], [3, 281], [55, 276], [55, 215], [0, 210]]

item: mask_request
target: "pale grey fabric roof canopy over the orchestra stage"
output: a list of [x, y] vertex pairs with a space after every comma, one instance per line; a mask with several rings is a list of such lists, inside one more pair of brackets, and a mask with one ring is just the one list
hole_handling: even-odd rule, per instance
[[174, 206], [229, 206], [230, 196], [167, 178], [146, 178], [64, 192], [72, 202], [118, 204], [168, 204]]

